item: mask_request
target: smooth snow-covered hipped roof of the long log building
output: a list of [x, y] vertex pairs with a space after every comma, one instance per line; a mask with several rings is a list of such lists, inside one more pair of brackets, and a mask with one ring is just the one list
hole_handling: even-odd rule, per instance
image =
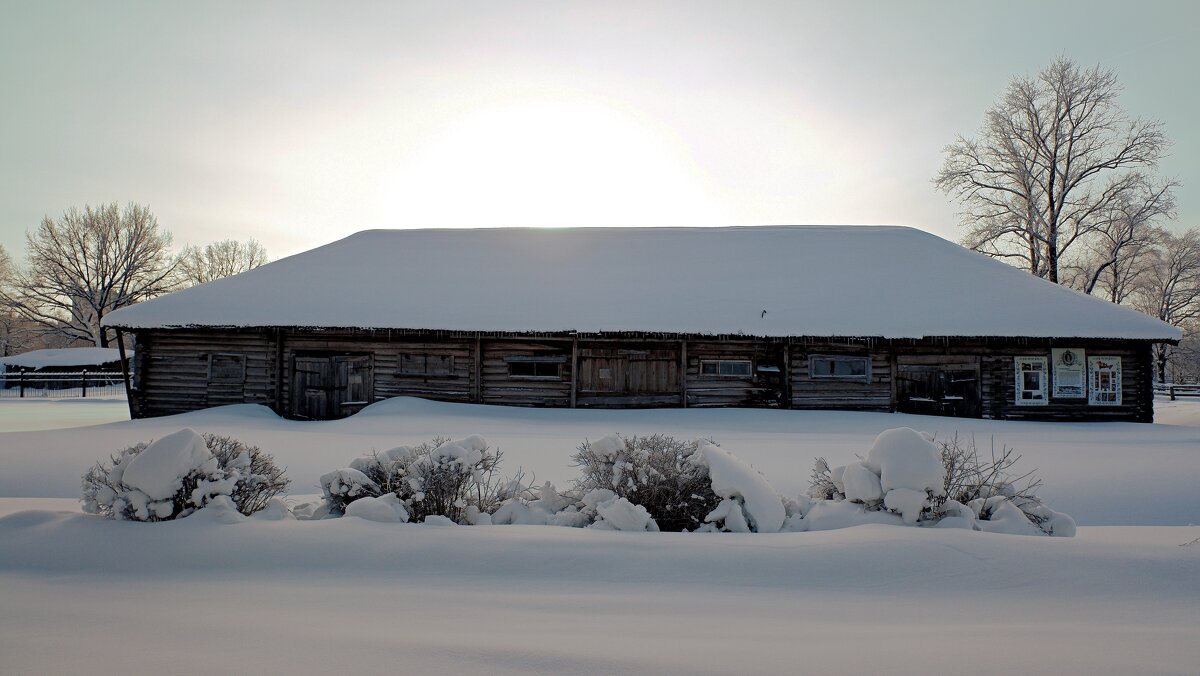
[[1133, 310], [890, 226], [366, 231], [104, 323], [1180, 339]]

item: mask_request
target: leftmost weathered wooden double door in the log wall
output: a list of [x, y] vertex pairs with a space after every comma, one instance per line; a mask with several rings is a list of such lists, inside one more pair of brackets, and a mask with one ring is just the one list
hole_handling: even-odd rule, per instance
[[298, 354], [292, 361], [293, 418], [346, 418], [371, 403], [373, 393], [370, 354]]

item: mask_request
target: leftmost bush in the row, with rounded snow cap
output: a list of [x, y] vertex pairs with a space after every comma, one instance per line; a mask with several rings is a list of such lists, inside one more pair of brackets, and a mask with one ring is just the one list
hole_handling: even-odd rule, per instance
[[250, 515], [288, 485], [258, 447], [184, 429], [97, 462], [83, 475], [80, 502], [89, 514], [133, 521], [181, 519], [210, 504]]

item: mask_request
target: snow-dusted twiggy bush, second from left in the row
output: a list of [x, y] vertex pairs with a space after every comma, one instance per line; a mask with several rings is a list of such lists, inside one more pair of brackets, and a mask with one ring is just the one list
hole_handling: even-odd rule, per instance
[[[457, 524], [479, 524], [514, 492], [524, 490], [520, 473], [511, 480], [500, 477], [502, 457], [480, 436], [438, 437], [358, 457], [349, 467], [323, 475], [320, 487], [331, 514], [361, 516], [367, 504], [376, 503], [352, 510], [353, 504], [392, 495], [395, 504], [390, 498], [385, 503], [397, 521], [440, 515]], [[382, 508], [371, 513], [386, 516]]]

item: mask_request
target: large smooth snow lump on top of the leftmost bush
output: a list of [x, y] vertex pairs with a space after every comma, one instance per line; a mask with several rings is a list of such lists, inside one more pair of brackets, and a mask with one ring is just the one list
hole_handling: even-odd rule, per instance
[[184, 478], [193, 471], [215, 473], [217, 461], [204, 438], [185, 427], [148, 445], [125, 466], [121, 480], [150, 499], [167, 499], [179, 492]]

